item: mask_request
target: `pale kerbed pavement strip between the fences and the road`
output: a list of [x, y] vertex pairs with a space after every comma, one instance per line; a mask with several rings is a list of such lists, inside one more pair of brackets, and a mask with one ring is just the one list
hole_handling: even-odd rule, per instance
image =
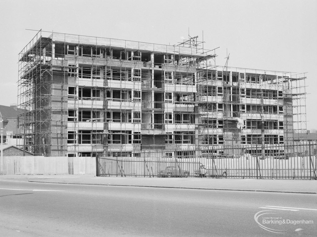
[[0, 176], [0, 181], [1, 180], [57, 184], [317, 194], [317, 180], [304, 179], [134, 178], [96, 177], [94, 175], [84, 174], [3, 175]]

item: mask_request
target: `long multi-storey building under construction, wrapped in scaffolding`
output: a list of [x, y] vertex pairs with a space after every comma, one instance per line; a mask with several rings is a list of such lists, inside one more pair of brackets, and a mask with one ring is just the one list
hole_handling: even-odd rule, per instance
[[306, 132], [305, 75], [217, 66], [197, 39], [39, 31], [19, 54], [17, 145], [68, 157], [287, 152], [293, 134]]

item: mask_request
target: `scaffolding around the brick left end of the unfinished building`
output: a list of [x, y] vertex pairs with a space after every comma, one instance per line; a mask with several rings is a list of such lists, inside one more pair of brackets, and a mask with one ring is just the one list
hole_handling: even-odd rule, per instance
[[18, 66], [18, 104], [24, 113], [18, 117], [23, 144], [17, 145], [35, 155], [64, 155], [67, 66], [53, 64], [52, 40], [41, 30], [19, 53]]

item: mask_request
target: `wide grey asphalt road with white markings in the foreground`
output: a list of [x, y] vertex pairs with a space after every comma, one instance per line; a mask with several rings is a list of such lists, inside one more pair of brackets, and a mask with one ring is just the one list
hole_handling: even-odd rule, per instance
[[[275, 234], [256, 223], [266, 210], [314, 223]], [[0, 236], [316, 236], [316, 223], [316, 194], [0, 181]]]

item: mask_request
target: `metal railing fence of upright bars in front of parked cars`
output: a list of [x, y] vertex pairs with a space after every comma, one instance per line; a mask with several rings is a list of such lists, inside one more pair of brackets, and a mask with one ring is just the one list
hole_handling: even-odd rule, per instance
[[97, 176], [317, 179], [316, 144], [107, 152]]

